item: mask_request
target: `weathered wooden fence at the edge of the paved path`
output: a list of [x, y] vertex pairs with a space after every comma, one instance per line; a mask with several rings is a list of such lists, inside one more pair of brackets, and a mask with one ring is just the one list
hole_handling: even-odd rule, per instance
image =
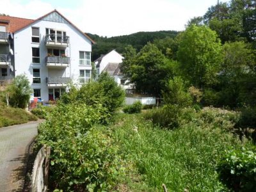
[[36, 155], [32, 172], [31, 192], [47, 191], [50, 153], [51, 147], [44, 146]]

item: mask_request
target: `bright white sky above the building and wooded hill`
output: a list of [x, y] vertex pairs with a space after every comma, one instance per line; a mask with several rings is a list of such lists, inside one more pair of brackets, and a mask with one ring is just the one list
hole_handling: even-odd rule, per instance
[[182, 31], [189, 19], [204, 15], [217, 3], [217, 0], [0, 1], [3, 1], [0, 13], [37, 19], [56, 9], [82, 31], [108, 37], [139, 31]]

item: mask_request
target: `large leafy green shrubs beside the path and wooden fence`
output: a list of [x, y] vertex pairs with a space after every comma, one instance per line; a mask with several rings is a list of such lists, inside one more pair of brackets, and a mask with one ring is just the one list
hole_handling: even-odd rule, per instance
[[38, 129], [37, 145], [51, 146], [52, 188], [68, 191], [112, 189], [123, 166], [107, 124], [124, 102], [124, 91], [108, 74], [72, 87]]

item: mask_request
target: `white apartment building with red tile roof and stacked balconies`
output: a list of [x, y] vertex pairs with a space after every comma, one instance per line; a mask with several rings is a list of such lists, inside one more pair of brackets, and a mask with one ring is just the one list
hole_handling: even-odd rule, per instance
[[0, 16], [0, 79], [28, 77], [31, 99], [56, 100], [92, 76], [93, 40], [54, 10], [36, 19]]

